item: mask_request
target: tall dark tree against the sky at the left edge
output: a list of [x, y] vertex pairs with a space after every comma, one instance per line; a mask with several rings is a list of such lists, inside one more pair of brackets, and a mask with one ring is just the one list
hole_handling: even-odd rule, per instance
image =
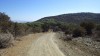
[[11, 20], [8, 15], [0, 12], [0, 31], [1, 33], [7, 33], [11, 26]]

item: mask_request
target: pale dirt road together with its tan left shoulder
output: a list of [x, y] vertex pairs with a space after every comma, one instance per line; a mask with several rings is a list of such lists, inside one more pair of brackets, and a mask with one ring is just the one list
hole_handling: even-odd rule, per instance
[[56, 33], [30, 34], [5, 49], [1, 56], [64, 56], [54, 43]]

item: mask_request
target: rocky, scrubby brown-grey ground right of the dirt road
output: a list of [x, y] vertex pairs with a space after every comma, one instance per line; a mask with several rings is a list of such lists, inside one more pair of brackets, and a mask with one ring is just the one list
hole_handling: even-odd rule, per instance
[[55, 42], [66, 56], [100, 56], [100, 42], [93, 41], [92, 38], [78, 37], [71, 41], [64, 41], [64, 35], [57, 33], [58, 40]]

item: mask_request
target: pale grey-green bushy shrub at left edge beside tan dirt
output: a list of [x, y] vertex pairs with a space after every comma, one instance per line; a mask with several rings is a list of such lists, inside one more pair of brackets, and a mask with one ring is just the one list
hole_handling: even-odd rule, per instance
[[0, 34], [0, 48], [9, 47], [13, 43], [14, 37], [12, 34]]

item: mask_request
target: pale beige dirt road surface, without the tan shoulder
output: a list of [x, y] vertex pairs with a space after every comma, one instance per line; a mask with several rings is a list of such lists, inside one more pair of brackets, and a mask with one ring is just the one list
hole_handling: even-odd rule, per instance
[[32, 43], [27, 56], [64, 56], [54, 43], [55, 33], [48, 33]]

